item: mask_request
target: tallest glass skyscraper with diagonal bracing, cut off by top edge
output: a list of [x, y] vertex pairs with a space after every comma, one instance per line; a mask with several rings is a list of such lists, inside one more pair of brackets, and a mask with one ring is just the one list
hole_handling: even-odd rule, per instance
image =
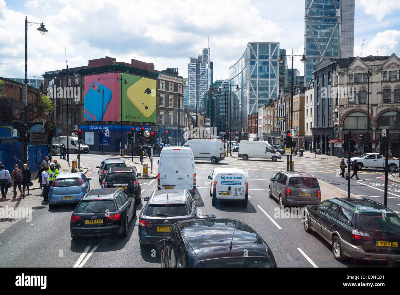
[[323, 58], [346, 59], [354, 49], [355, 0], [305, 0], [304, 86]]

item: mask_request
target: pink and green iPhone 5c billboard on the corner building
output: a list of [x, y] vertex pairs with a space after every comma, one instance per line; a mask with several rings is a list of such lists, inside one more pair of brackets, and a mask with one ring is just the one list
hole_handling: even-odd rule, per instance
[[156, 80], [120, 73], [85, 76], [84, 121], [121, 120], [121, 75], [122, 120], [156, 122]]

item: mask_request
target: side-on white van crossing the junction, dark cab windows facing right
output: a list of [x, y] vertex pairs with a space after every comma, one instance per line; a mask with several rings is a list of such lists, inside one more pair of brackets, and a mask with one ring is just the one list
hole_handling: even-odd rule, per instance
[[242, 157], [243, 160], [247, 160], [248, 158], [271, 159], [272, 161], [282, 159], [281, 154], [264, 140], [241, 140], [238, 157]]

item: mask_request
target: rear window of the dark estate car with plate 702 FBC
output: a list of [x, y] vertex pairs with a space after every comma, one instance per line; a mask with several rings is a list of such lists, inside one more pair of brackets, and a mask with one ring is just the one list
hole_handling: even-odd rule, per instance
[[396, 214], [360, 214], [360, 230], [400, 233], [400, 218]]

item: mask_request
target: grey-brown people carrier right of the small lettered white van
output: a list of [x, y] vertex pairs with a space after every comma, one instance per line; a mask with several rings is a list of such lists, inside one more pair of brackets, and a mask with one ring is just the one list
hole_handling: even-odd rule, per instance
[[268, 195], [279, 201], [281, 209], [286, 205], [316, 205], [321, 202], [318, 180], [308, 172], [278, 172], [271, 178]]

